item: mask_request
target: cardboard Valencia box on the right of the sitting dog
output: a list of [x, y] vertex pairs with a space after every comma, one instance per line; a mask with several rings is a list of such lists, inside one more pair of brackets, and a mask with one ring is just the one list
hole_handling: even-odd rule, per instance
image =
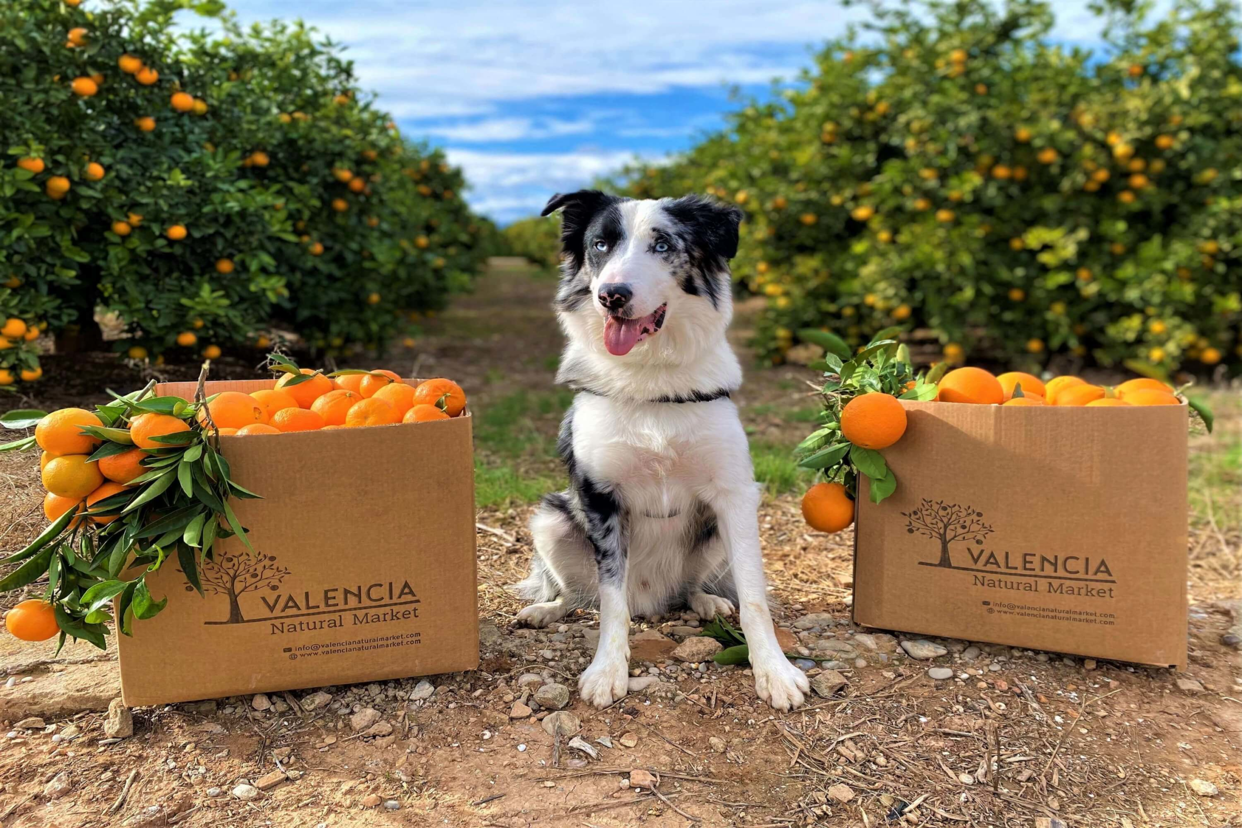
[[1186, 665], [1187, 408], [905, 402], [858, 498], [854, 621]]

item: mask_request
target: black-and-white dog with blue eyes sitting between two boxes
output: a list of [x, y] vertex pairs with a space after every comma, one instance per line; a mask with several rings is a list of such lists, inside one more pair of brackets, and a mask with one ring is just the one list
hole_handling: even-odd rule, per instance
[[606, 708], [627, 691], [631, 614], [739, 611], [759, 696], [802, 704], [806, 675], [776, 643], [759, 550], [759, 488], [729, 398], [741, 367], [725, 339], [741, 212], [698, 196], [555, 195], [564, 264], [558, 381], [578, 391], [560, 431], [569, 488], [530, 521], [535, 554], [518, 623], [600, 610], [578, 686]]

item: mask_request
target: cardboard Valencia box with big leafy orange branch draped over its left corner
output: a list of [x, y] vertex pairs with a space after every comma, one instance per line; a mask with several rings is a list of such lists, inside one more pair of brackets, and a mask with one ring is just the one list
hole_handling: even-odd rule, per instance
[[[251, 392], [272, 380], [207, 382]], [[191, 398], [194, 384], [158, 394]], [[117, 636], [127, 705], [215, 699], [478, 665], [474, 467], [468, 412], [452, 420], [221, 437], [232, 500], [257, 556], [217, 544], [186, 582], [175, 556], [152, 593], [168, 607]]]

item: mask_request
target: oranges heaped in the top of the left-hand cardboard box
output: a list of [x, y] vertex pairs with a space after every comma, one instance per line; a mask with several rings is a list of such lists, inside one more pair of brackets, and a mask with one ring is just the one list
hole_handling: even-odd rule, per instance
[[409, 385], [386, 370], [335, 376], [301, 370], [310, 379], [293, 382], [294, 375], [284, 374], [270, 390], [217, 394], [200, 420], [210, 417], [225, 436], [281, 434], [448, 420], [466, 408], [466, 394], [452, 380]]

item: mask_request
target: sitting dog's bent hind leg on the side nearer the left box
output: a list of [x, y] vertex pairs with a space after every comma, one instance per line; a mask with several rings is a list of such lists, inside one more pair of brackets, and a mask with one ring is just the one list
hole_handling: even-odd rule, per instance
[[530, 518], [530, 534], [535, 546], [530, 575], [517, 585], [517, 591], [534, 603], [518, 612], [514, 623], [546, 627], [592, 603], [589, 596], [595, 591], [595, 555], [564, 492], [544, 498]]

